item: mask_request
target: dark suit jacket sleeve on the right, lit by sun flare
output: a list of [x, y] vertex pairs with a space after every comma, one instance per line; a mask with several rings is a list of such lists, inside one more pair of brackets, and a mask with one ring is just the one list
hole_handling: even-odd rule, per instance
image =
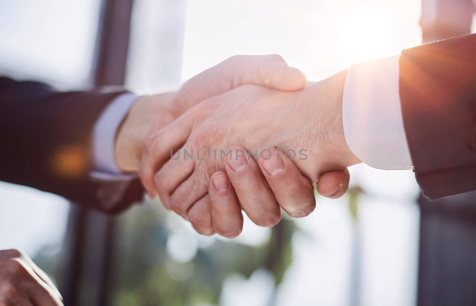
[[423, 194], [476, 190], [476, 35], [404, 50], [399, 92]]

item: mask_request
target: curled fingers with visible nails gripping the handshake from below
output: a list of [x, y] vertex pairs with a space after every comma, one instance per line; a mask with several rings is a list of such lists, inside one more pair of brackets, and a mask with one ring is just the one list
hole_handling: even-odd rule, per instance
[[[195, 230], [203, 235], [218, 233], [228, 238], [236, 237], [243, 228], [242, 208], [261, 226], [278, 223], [281, 216], [278, 204], [293, 217], [310, 214], [316, 206], [312, 183], [291, 160], [285, 158], [284, 153], [279, 154], [280, 159], [277, 159], [278, 152], [274, 152], [266, 164], [261, 157], [258, 161], [251, 158], [248, 166], [239, 173], [226, 167], [226, 172], [212, 174], [208, 194], [192, 205], [187, 213]], [[279, 169], [271, 171], [270, 165], [278, 165]], [[334, 199], [347, 191], [348, 184], [347, 169], [328, 172], [319, 177], [317, 191]], [[270, 202], [263, 202], [263, 199]]]

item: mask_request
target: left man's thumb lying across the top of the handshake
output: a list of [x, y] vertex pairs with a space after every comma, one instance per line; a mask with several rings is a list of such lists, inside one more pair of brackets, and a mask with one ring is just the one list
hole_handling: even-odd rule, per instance
[[188, 109], [202, 100], [245, 84], [295, 91], [306, 85], [306, 76], [288, 66], [277, 54], [235, 55], [186, 82], [178, 91], [178, 109]]

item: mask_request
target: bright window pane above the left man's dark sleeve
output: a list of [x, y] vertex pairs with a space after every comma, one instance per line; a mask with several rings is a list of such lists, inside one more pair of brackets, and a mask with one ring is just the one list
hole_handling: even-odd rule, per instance
[[88, 83], [100, 0], [0, 3], [0, 69], [63, 87]]

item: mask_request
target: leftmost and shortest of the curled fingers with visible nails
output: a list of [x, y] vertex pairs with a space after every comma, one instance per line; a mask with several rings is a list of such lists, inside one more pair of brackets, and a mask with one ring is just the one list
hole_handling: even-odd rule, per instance
[[243, 229], [243, 214], [235, 189], [224, 171], [213, 173], [208, 184], [211, 222], [219, 235], [234, 238]]

